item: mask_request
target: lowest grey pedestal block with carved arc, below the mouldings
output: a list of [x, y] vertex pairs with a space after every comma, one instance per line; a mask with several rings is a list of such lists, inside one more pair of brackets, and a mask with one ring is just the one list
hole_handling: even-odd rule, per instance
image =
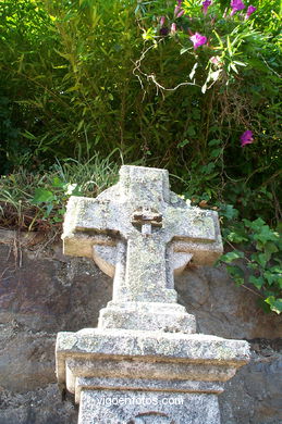
[[216, 395], [83, 390], [78, 424], [220, 424]]

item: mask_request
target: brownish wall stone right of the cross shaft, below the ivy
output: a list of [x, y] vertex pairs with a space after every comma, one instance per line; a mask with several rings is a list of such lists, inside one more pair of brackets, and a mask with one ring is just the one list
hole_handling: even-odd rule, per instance
[[265, 313], [256, 294], [236, 287], [222, 265], [188, 267], [175, 287], [179, 302], [196, 316], [198, 333], [243, 339], [282, 337], [282, 314]]

